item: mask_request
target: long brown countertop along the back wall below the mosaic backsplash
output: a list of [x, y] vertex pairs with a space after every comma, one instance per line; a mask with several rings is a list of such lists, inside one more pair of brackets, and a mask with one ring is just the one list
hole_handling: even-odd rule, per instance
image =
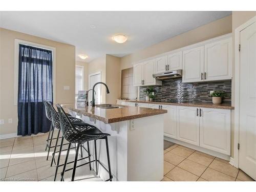
[[233, 110], [234, 107], [228, 103], [213, 104], [213, 103], [172, 103], [172, 102], [156, 102], [156, 101], [136, 101], [136, 100], [125, 100], [126, 102], [137, 102], [137, 103], [148, 103], [148, 104], [165, 104], [165, 105], [178, 105], [178, 106], [194, 106], [198, 108], [213, 108], [213, 109], [224, 109]]

